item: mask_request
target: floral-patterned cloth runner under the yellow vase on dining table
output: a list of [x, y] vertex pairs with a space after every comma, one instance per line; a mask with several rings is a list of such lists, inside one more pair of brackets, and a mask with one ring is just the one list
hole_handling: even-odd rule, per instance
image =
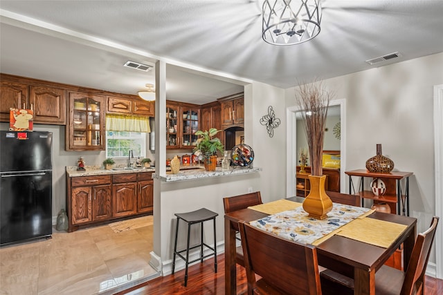
[[[251, 221], [250, 224], [287, 240], [314, 245], [316, 240], [327, 237], [328, 234], [333, 234], [333, 231], [352, 220], [367, 216], [374, 211], [346, 204], [333, 203], [333, 205], [332, 211], [327, 213], [327, 218], [323, 220], [308, 217], [308, 213], [299, 206], [296, 209]], [[321, 240], [321, 242], [323, 241], [324, 239]]]

